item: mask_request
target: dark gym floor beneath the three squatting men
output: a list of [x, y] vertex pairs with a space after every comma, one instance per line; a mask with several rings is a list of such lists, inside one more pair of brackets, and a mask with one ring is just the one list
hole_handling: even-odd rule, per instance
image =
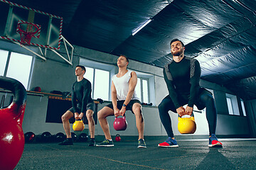
[[209, 148], [208, 140], [178, 140], [176, 148], [146, 140], [146, 149], [137, 148], [137, 141], [114, 142], [114, 147], [31, 143], [15, 169], [255, 169], [256, 139], [219, 140], [223, 148]]

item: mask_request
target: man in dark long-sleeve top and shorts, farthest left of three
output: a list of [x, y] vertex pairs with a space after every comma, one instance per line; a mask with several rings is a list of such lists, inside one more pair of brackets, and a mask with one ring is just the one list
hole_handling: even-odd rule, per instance
[[92, 101], [92, 84], [85, 79], [85, 67], [78, 65], [75, 67], [75, 75], [77, 81], [72, 86], [72, 108], [70, 108], [62, 116], [63, 128], [67, 135], [67, 140], [60, 142], [59, 145], [73, 145], [73, 140], [70, 133], [69, 120], [75, 115], [75, 120], [82, 119], [86, 113], [90, 130], [89, 146], [95, 146], [95, 121], [92, 118], [93, 111], [95, 110], [95, 103]]

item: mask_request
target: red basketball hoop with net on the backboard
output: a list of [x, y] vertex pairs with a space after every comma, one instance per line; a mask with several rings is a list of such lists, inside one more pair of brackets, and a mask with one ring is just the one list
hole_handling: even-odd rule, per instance
[[38, 26], [35, 23], [26, 21], [18, 22], [17, 32], [21, 35], [21, 45], [30, 45], [31, 38], [38, 33]]

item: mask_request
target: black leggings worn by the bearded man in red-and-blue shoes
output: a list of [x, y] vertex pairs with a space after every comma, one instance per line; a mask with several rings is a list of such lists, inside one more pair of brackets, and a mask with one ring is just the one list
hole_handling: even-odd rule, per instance
[[[217, 124], [217, 111], [212, 94], [210, 93], [210, 91], [204, 89], [198, 95], [197, 99], [198, 100], [195, 103], [196, 107], [199, 110], [206, 108], [206, 119], [209, 126], [209, 135], [215, 134]], [[181, 106], [186, 105], [188, 103], [188, 98], [181, 96], [180, 98], [178, 98], [178, 102], [181, 104]], [[174, 113], [177, 113], [177, 111], [169, 95], [161, 101], [158, 108], [161, 123], [164, 125], [167, 135], [169, 137], [174, 137], [174, 132], [171, 128], [171, 117], [168, 111], [173, 111]]]

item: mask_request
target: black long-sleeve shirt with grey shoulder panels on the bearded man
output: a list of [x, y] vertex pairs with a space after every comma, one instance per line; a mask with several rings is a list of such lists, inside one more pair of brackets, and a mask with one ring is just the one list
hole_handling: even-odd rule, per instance
[[193, 58], [183, 57], [181, 62], [172, 60], [164, 66], [164, 80], [176, 108], [181, 107], [178, 103], [178, 95], [188, 96], [188, 106], [193, 108], [200, 88], [200, 77], [200, 64]]

